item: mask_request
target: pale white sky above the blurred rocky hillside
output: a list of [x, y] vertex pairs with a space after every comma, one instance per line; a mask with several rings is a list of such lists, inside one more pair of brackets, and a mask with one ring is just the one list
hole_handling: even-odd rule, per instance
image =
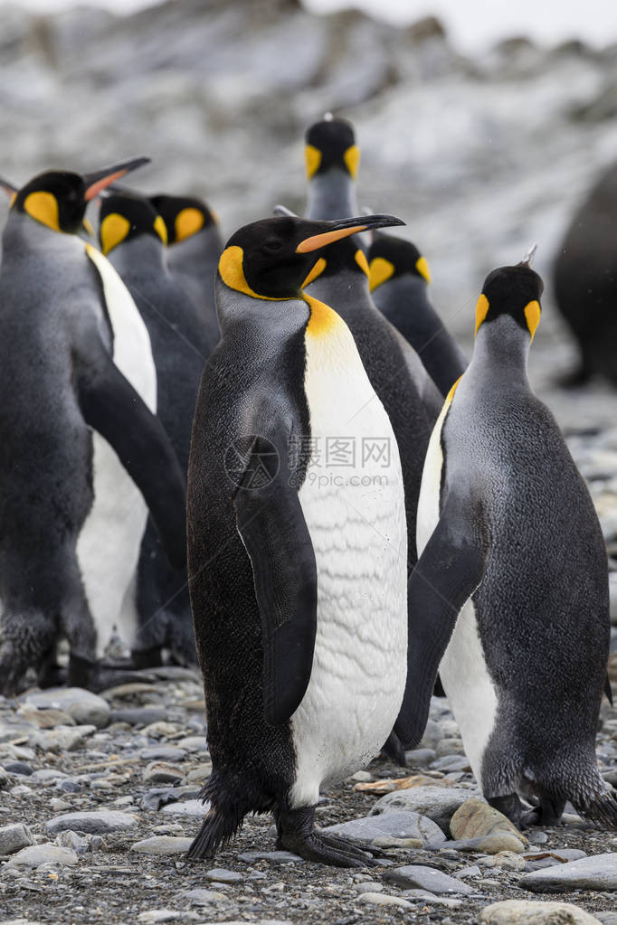
[[[0, 6], [15, 0], [0, 0]], [[76, 6], [77, 0], [19, 0], [20, 5], [51, 12]], [[259, 0], [253, 0], [255, 4]], [[107, 6], [118, 13], [149, 0], [80, 0], [82, 5]], [[207, 0], [204, 0], [207, 3]], [[233, 0], [229, 0], [233, 3]], [[303, 0], [315, 12], [358, 6], [393, 22], [411, 22], [436, 14], [452, 40], [470, 52], [512, 34], [526, 34], [550, 45], [581, 38], [592, 44], [617, 41], [616, 0]]]

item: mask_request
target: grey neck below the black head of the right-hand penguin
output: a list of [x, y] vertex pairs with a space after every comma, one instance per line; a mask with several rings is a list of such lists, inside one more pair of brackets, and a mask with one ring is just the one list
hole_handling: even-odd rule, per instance
[[478, 380], [488, 377], [494, 384], [497, 371], [499, 381], [508, 388], [513, 384], [531, 388], [527, 376], [529, 344], [529, 334], [510, 315], [485, 321], [475, 338], [470, 377]]

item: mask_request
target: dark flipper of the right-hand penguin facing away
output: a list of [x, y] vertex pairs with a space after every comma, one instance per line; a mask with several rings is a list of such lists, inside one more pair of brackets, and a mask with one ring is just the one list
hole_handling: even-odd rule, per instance
[[439, 662], [463, 604], [482, 581], [485, 547], [477, 514], [447, 500], [408, 585], [407, 684], [394, 724], [406, 748], [424, 733]]

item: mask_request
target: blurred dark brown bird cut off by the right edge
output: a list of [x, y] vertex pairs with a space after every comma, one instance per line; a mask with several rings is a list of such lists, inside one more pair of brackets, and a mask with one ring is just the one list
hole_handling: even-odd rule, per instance
[[574, 213], [555, 260], [554, 286], [581, 351], [567, 384], [594, 375], [617, 384], [617, 164]]

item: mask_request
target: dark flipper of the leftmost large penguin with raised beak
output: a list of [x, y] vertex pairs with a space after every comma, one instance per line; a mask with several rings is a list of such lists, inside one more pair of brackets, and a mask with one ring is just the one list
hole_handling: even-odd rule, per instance
[[172, 565], [186, 562], [185, 478], [161, 422], [103, 345], [78, 376], [81, 413], [116, 450], [148, 505]]

